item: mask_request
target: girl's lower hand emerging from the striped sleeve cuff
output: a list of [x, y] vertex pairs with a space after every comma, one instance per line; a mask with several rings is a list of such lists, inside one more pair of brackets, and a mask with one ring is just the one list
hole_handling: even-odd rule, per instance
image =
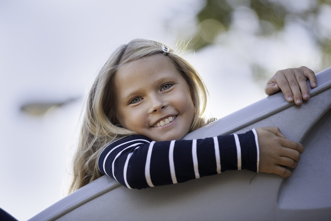
[[291, 176], [291, 171], [282, 166], [297, 167], [300, 154], [304, 152], [302, 144], [286, 139], [278, 127], [260, 127], [256, 132], [260, 149], [259, 171]]

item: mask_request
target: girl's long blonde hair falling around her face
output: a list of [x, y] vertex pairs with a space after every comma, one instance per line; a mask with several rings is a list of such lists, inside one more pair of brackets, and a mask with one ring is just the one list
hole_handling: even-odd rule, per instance
[[[97, 158], [104, 146], [127, 135], [137, 134], [120, 127], [112, 92], [117, 70], [129, 62], [160, 54], [162, 44], [157, 41], [134, 39], [110, 56], [97, 75], [87, 99], [78, 148], [73, 159], [73, 181], [69, 192], [102, 176]], [[206, 124], [207, 88], [198, 72], [171, 48], [168, 57], [186, 80], [195, 105], [195, 117], [190, 132]]]

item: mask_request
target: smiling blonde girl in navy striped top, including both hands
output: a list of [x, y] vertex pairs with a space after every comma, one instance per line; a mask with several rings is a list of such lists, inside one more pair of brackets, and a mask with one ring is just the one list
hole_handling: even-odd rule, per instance
[[[278, 71], [265, 92], [287, 101], [309, 99], [306, 68]], [[135, 39], [100, 70], [87, 98], [71, 191], [106, 174], [128, 188], [175, 184], [224, 170], [289, 177], [303, 146], [278, 127], [244, 134], [180, 140], [206, 125], [207, 89], [197, 71], [167, 46]]]

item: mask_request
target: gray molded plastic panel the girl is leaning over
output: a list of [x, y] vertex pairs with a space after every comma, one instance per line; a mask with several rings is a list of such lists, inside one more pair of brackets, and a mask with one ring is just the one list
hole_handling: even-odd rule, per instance
[[278, 126], [302, 142], [292, 176], [225, 171], [186, 183], [127, 189], [103, 176], [29, 219], [35, 220], [330, 220], [331, 68], [301, 106], [269, 96], [186, 135], [184, 139]]

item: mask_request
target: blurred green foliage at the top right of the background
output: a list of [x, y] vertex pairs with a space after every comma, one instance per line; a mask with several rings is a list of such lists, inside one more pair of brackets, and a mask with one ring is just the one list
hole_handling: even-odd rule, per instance
[[[322, 62], [330, 66], [331, 36], [321, 35], [323, 26], [318, 18], [325, 5], [331, 5], [331, 0], [311, 0], [309, 7], [296, 9], [289, 7], [286, 0], [205, 0], [205, 5], [197, 13], [197, 32], [191, 39], [189, 49], [198, 51], [210, 44], [220, 34], [224, 34], [233, 24], [233, 13], [239, 7], [252, 10], [259, 20], [256, 36], [272, 36], [284, 30], [287, 22], [296, 22], [307, 29], [314, 44], [320, 48]], [[331, 16], [331, 15], [330, 15]], [[331, 22], [331, 17], [330, 17]]]

